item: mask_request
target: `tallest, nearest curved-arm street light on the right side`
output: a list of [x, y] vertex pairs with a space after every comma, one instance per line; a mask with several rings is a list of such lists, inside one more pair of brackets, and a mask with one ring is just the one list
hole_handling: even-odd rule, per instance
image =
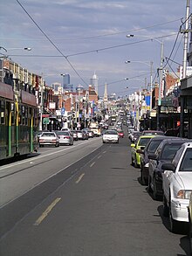
[[[127, 35], [127, 38], [133, 38], [134, 35]], [[158, 95], [158, 109], [157, 109], [157, 130], [160, 130], [160, 113], [161, 113], [161, 84], [162, 84], [162, 66], [163, 66], [163, 41], [158, 40], [157, 38], [152, 38], [149, 36], [142, 36], [142, 35], [137, 35], [136, 37], [140, 37], [140, 38], [148, 38], [151, 41], [156, 41], [159, 44], [161, 44], [161, 62], [160, 62], [160, 68], [159, 68], [159, 95]]]

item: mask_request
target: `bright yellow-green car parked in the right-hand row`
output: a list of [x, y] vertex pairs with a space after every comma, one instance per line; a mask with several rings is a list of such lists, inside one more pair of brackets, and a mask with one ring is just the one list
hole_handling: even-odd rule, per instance
[[131, 144], [131, 164], [137, 168], [141, 167], [141, 155], [137, 153], [137, 149], [145, 149], [147, 143], [155, 135], [141, 135], [136, 143]]

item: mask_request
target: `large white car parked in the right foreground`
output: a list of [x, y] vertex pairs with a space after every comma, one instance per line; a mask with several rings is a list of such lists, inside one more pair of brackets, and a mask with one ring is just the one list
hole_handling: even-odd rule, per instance
[[185, 142], [172, 163], [163, 163], [163, 214], [169, 217], [170, 231], [189, 225], [189, 198], [192, 192], [192, 142]]

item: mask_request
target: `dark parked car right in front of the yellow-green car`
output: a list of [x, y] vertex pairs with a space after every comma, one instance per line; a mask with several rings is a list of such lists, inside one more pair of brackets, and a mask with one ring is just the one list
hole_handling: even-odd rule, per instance
[[151, 140], [148, 142], [147, 147], [145, 149], [138, 149], [138, 153], [141, 154], [141, 183], [143, 185], [148, 184], [148, 164], [149, 154], [154, 154], [155, 150], [158, 148], [160, 143], [168, 137], [166, 136], [154, 136], [151, 138]]

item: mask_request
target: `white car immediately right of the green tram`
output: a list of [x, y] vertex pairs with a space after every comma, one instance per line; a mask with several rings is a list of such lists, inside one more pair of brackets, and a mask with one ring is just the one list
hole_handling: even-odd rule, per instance
[[59, 147], [58, 135], [55, 132], [43, 132], [39, 137], [39, 147], [55, 146]]

